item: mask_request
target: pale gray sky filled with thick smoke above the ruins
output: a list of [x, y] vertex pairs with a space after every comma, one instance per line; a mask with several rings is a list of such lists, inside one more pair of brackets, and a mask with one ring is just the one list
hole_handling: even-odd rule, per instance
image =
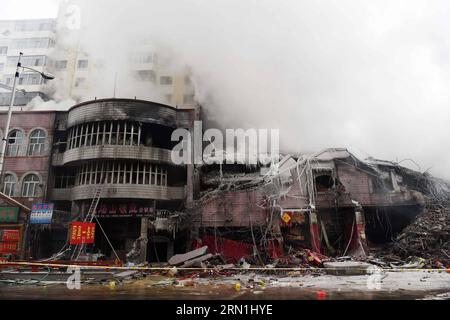
[[[56, 14], [56, 1], [0, 1], [0, 19]], [[78, 2], [93, 56], [151, 35], [192, 66], [200, 102], [228, 127], [279, 128], [293, 151], [412, 158], [450, 178], [448, 1]]]

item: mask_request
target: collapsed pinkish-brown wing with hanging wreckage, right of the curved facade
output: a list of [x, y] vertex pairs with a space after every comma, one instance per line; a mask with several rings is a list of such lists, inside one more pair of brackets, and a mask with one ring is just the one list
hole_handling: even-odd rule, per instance
[[425, 204], [420, 173], [362, 161], [347, 149], [285, 156], [271, 166], [216, 167], [201, 168], [203, 192], [193, 219], [197, 241], [212, 251], [237, 241], [231, 247], [241, 246], [238, 253], [226, 253], [231, 260], [273, 258], [298, 247], [366, 255], [368, 244], [389, 241]]

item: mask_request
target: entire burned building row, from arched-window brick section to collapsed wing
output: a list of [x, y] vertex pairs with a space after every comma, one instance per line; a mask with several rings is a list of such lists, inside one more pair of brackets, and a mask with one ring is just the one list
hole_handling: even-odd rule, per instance
[[[175, 164], [172, 133], [195, 131], [197, 119], [197, 109], [136, 99], [14, 113], [3, 193], [55, 208], [51, 225], [29, 230], [29, 256], [165, 262], [204, 245], [227, 262], [262, 263], [297, 248], [364, 256], [410, 223], [425, 196], [446, 188], [340, 148], [268, 164]], [[93, 219], [95, 241], [77, 253], [70, 222]], [[23, 240], [26, 223], [21, 216], [6, 227]]]

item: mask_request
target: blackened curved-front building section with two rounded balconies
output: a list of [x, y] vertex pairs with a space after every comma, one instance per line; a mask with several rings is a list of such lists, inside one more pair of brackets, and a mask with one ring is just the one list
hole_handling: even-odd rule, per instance
[[171, 134], [196, 117], [193, 109], [130, 99], [57, 114], [50, 199], [72, 221], [96, 224], [95, 241], [72, 258], [164, 262], [187, 250], [192, 175], [172, 163]]

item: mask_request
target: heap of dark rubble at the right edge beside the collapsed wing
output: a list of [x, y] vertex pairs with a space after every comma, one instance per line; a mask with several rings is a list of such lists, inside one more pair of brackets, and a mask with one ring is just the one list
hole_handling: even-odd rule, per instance
[[430, 266], [449, 265], [450, 199], [429, 203], [424, 212], [396, 237], [391, 250], [402, 258], [425, 258]]

